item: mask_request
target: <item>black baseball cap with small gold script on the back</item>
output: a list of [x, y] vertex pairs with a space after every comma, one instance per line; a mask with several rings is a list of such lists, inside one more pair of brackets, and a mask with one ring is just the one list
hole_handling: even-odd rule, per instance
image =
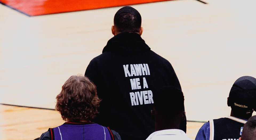
[[239, 112], [251, 113], [256, 109], [256, 79], [242, 76], [233, 84], [228, 99], [228, 106]]

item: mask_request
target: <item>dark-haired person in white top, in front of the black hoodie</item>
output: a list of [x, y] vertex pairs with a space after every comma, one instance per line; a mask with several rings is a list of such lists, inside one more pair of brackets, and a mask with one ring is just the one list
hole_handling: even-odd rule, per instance
[[159, 89], [154, 94], [155, 132], [147, 140], [188, 139], [185, 132], [179, 130], [180, 122], [184, 120], [184, 96], [180, 89], [168, 86]]

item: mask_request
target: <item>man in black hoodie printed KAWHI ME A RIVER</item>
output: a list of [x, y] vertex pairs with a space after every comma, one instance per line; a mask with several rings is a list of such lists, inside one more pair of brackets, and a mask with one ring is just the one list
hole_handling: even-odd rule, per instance
[[[181, 85], [169, 61], [141, 38], [141, 15], [136, 9], [119, 9], [111, 30], [114, 37], [85, 72], [102, 99], [94, 121], [116, 130], [123, 140], [143, 140], [154, 132], [150, 115], [154, 89], [167, 85], [181, 89]], [[181, 129], [186, 132], [186, 119]]]

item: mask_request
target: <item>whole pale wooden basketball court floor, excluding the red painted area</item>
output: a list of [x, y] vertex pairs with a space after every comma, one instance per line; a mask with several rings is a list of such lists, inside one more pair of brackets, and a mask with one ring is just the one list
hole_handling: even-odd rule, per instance
[[[185, 95], [187, 134], [229, 115], [229, 90], [256, 77], [253, 0], [177, 0], [133, 5], [142, 38], [173, 65]], [[0, 103], [54, 109], [62, 84], [84, 74], [113, 35], [121, 7], [28, 17], [0, 5]], [[0, 139], [33, 139], [63, 123], [54, 110], [0, 105]]]

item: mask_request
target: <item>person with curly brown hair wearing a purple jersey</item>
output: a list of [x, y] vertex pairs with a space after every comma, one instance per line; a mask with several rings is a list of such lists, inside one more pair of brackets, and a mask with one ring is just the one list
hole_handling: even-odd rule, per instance
[[57, 95], [55, 109], [66, 122], [49, 128], [39, 140], [121, 140], [109, 127], [92, 122], [101, 100], [96, 86], [85, 76], [71, 76]]

